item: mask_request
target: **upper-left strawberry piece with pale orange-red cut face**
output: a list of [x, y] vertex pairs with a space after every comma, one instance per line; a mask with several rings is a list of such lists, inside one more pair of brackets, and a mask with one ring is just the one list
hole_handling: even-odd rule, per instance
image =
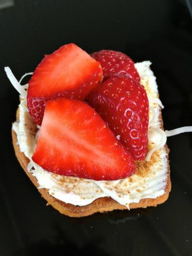
[[73, 43], [46, 55], [28, 82], [27, 105], [34, 123], [41, 124], [47, 100], [85, 100], [102, 79], [100, 63]]

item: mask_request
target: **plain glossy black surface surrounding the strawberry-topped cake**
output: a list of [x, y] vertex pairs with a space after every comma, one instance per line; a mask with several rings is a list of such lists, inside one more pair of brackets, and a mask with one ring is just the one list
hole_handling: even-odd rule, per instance
[[[0, 7], [2, 7], [0, 1]], [[188, 1], [190, 2], [190, 1]], [[192, 255], [192, 139], [168, 138], [172, 190], [156, 208], [60, 215], [41, 199], [15, 158], [11, 123], [19, 103], [4, 73], [20, 79], [45, 53], [76, 43], [151, 60], [165, 129], [192, 125], [192, 31], [185, 1], [17, 0], [0, 9], [0, 255]]]

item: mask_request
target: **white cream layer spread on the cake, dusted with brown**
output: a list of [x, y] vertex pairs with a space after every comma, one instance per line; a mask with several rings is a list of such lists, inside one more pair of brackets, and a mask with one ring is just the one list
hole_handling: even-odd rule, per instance
[[[155, 111], [155, 118], [149, 128], [149, 149], [161, 142], [161, 135], [156, 132], [156, 129], [152, 129], [161, 127], [161, 121], [159, 121], [161, 104], [158, 104], [158, 86], [150, 65], [149, 61], [135, 64], [141, 84], [148, 94], [149, 105]], [[12, 124], [12, 129], [17, 134], [20, 151], [31, 160], [36, 147], [38, 129], [31, 120], [26, 101], [22, 98], [19, 111], [20, 119]], [[152, 120], [154, 111], [149, 111], [149, 120]], [[153, 153], [151, 161], [136, 162], [135, 174], [117, 181], [94, 181], [66, 177], [47, 172], [35, 163], [29, 171], [37, 178], [39, 189], [47, 188], [50, 195], [65, 203], [84, 206], [100, 197], [111, 197], [129, 209], [130, 203], [139, 203], [141, 199], [146, 198], [155, 199], [165, 193], [167, 169], [167, 151], [163, 146]]]

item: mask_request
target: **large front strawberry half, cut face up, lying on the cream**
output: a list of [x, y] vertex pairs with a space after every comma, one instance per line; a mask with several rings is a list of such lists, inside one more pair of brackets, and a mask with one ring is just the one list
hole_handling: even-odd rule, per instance
[[132, 175], [135, 161], [87, 103], [47, 101], [36, 151], [40, 167], [60, 175], [119, 180]]

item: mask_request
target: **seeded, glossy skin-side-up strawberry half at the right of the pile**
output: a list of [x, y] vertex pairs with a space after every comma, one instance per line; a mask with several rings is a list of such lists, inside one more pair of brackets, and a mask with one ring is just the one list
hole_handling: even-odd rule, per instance
[[148, 152], [149, 101], [145, 89], [131, 78], [108, 78], [88, 96], [115, 135], [142, 161]]

